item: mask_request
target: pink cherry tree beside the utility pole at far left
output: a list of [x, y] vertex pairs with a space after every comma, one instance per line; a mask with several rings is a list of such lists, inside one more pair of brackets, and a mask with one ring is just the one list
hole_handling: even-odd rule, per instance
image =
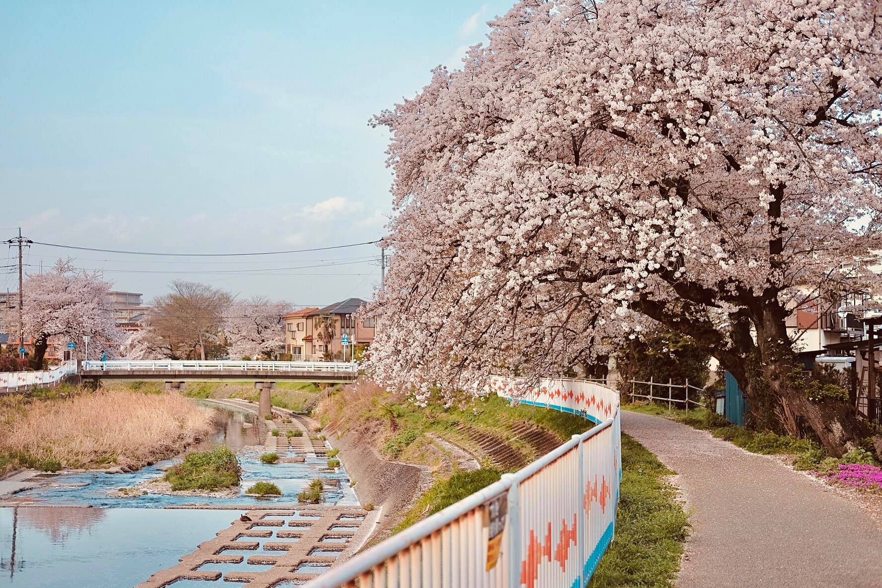
[[76, 343], [75, 355], [82, 359], [83, 337], [88, 336], [93, 359], [104, 352], [116, 354], [121, 331], [116, 329], [110, 286], [97, 274], [74, 271], [70, 259], [27, 277], [22, 319], [25, 336], [34, 339], [34, 368], [42, 366], [50, 341]]

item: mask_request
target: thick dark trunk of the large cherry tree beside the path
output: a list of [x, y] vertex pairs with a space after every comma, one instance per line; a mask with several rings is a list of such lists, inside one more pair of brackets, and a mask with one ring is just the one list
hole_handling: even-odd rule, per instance
[[766, 306], [754, 324], [757, 346], [753, 357], [743, 370], [733, 372], [747, 397], [754, 428], [796, 436], [811, 433], [835, 457], [870, 434], [847, 402], [810, 400], [801, 389], [802, 366], [792, 352], [780, 307]]

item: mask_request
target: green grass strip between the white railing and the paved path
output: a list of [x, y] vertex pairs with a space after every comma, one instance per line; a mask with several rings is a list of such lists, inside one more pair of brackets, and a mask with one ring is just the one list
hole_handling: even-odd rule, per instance
[[589, 586], [673, 585], [689, 522], [664, 480], [673, 473], [645, 447], [622, 435], [622, 485], [616, 540], [601, 558]]

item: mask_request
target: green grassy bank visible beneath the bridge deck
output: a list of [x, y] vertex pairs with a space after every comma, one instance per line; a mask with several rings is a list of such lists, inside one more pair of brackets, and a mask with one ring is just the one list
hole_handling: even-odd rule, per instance
[[[153, 392], [162, 391], [162, 382], [118, 382], [108, 383], [110, 386], [126, 390]], [[273, 390], [273, 406], [303, 411], [310, 402], [318, 397], [320, 390], [311, 382], [277, 382]], [[191, 398], [243, 398], [257, 402], [258, 391], [252, 382], [188, 382], [183, 391]]]

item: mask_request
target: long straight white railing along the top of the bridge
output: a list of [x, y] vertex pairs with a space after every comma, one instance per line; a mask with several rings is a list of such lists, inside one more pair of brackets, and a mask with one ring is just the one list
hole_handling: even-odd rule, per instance
[[357, 372], [358, 364], [340, 361], [178, 361], [112, 360], [83, 361], [86, 371], [133, 371], [167, 369], [172, 371], [278, 371], [278, 372]]

